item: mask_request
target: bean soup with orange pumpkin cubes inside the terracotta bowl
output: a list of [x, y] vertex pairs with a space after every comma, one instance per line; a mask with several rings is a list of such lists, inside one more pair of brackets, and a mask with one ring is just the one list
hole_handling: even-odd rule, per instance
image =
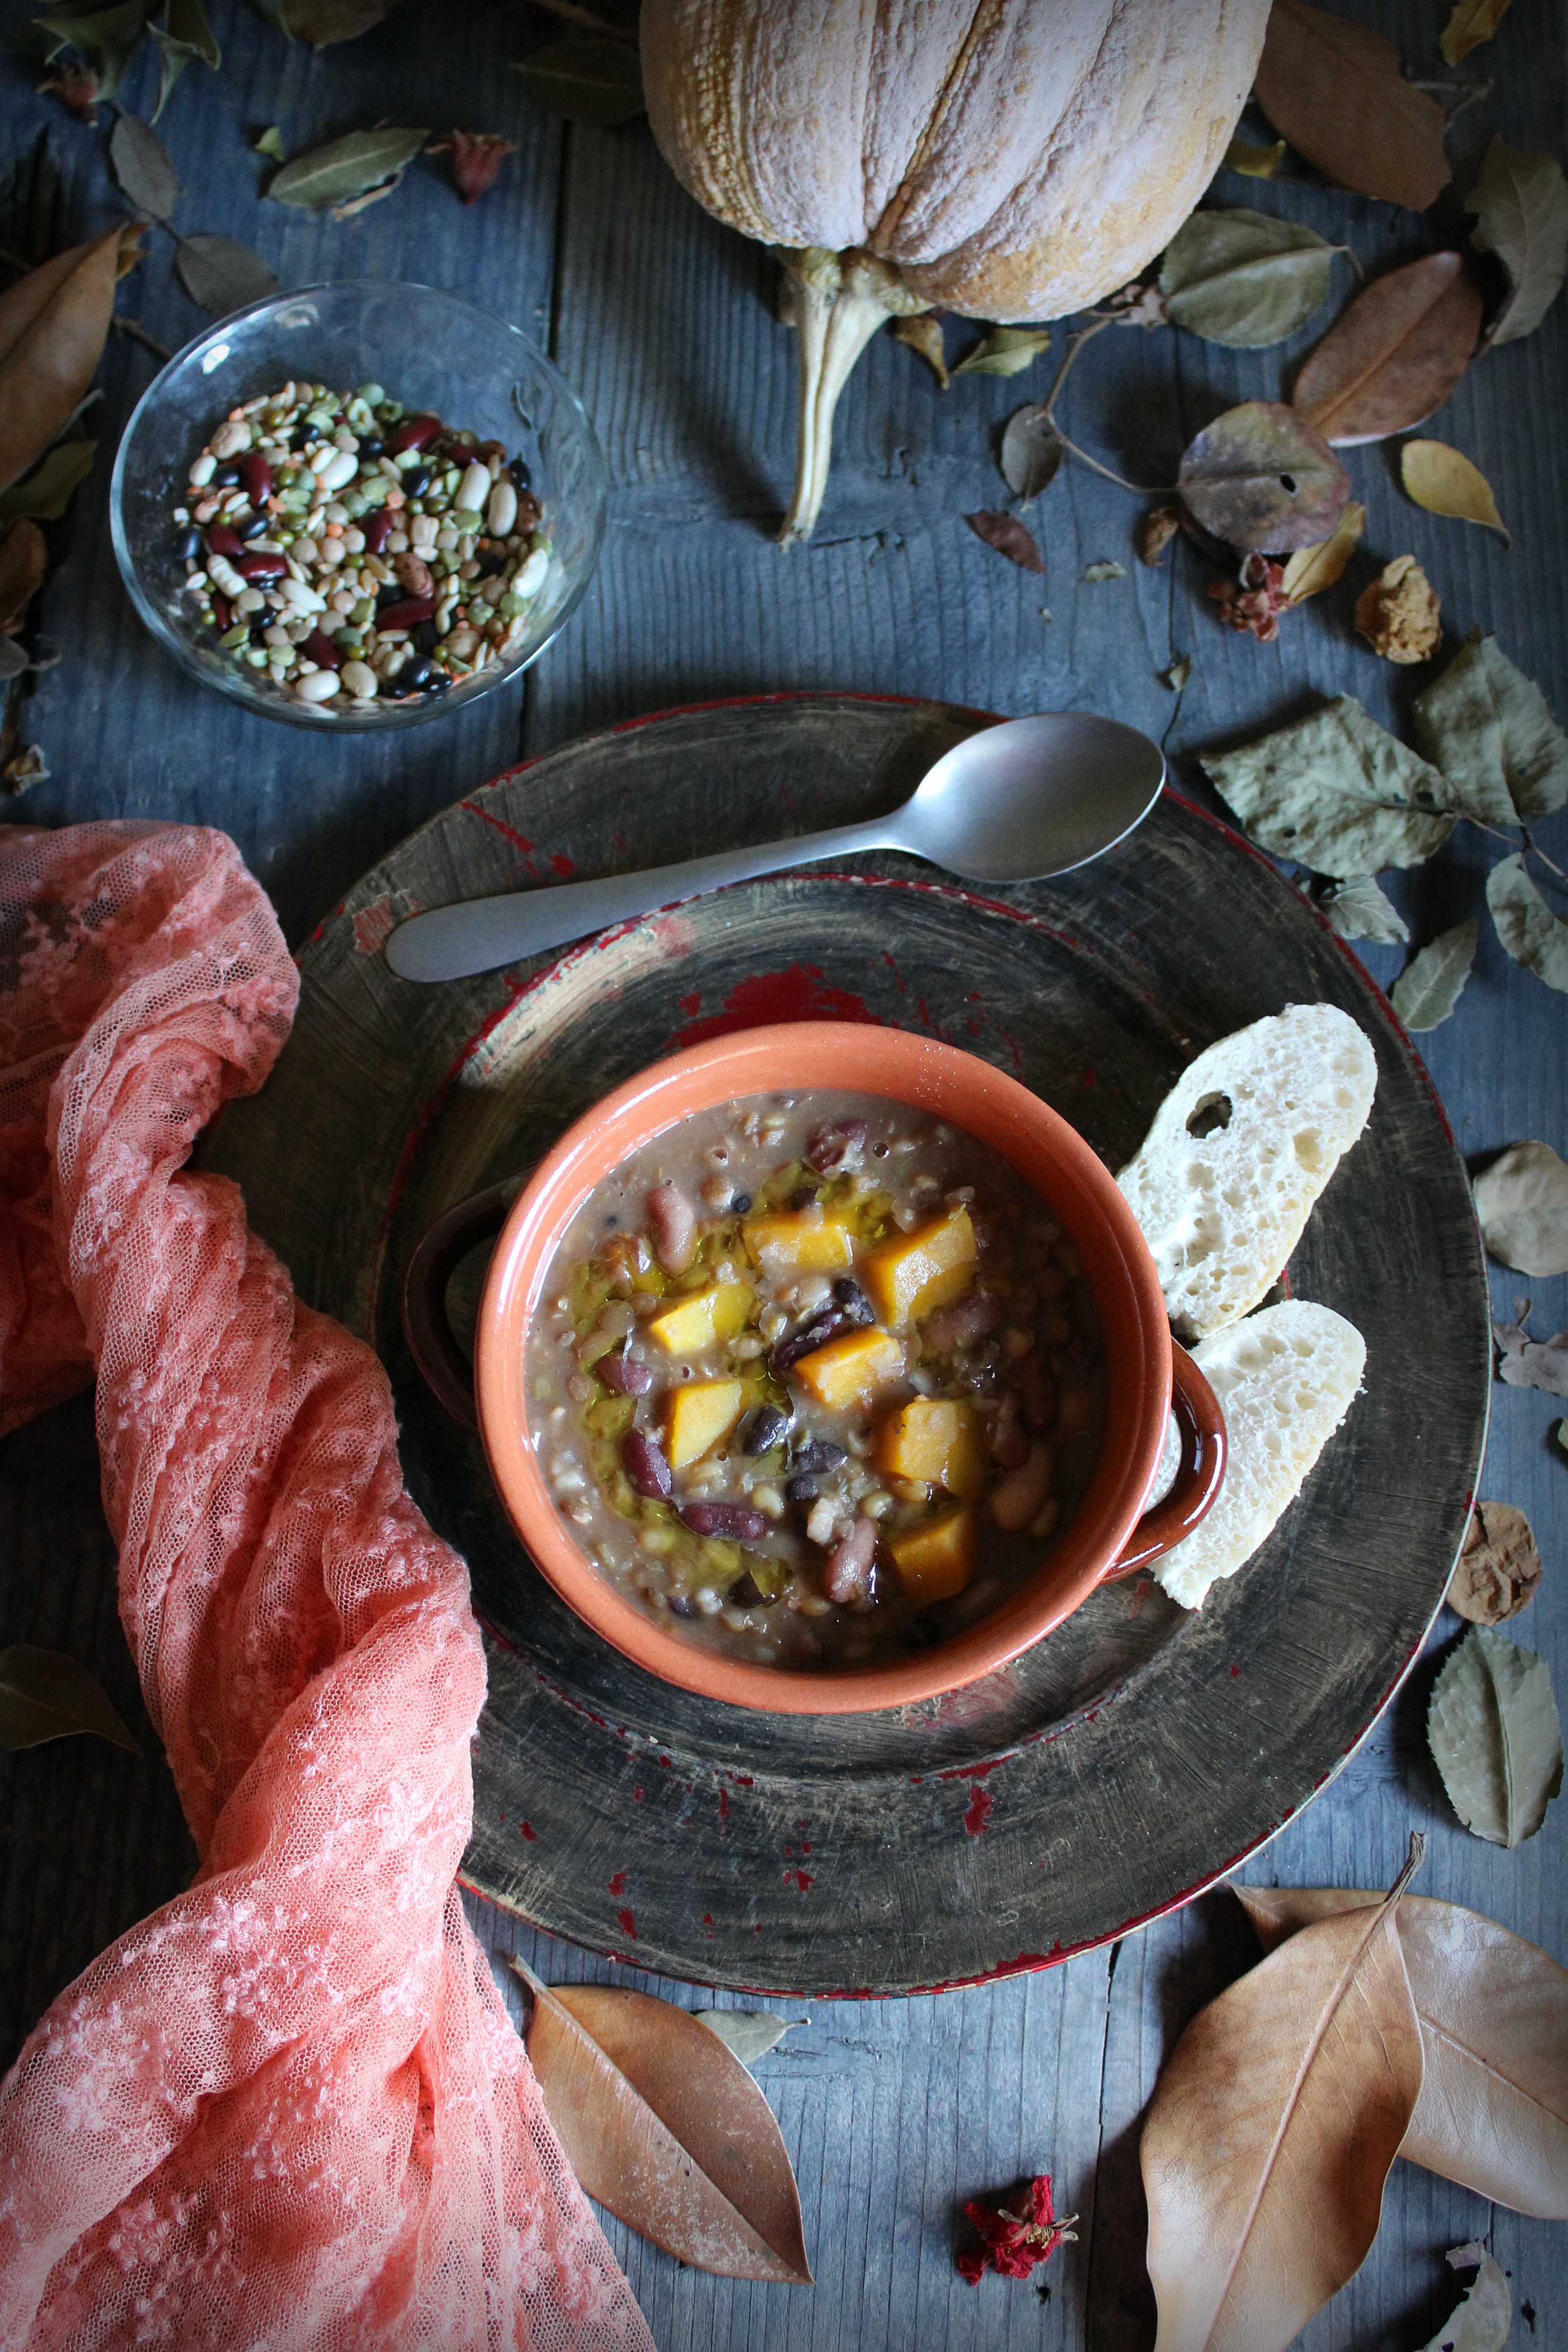
[[719, 1105], [614, 1169], [529, 1331], [538, 1454], [602, 1573], [757, 1665], [896, 1658], [1063, 1534], [1100, 1343], [1048, 1204], [882, 1096]]

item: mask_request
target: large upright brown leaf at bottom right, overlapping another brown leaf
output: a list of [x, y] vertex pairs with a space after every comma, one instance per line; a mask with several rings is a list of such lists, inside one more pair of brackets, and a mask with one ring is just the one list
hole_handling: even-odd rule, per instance
[[1201, 2009], [1143, 2126], [1157, 2352], [1284, 2352], [1361, 2267], [1422, 2077], [1394, 1905], [1319, 1919]]

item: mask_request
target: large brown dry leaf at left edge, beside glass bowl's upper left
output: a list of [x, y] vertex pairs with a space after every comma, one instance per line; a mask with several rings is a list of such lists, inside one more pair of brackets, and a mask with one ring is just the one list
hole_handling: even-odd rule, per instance
[[0, 489], [38, 463], [94, 379], [122, 238], [106, 228], [0, 294]]

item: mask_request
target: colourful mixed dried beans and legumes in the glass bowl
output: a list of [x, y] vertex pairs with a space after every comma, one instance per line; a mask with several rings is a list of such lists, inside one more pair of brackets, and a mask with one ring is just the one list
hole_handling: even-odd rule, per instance
[[527, 463], [378, 383], [284, 383], [230, 409], [174, 524], [219, 644], [329, 713], [510, 661], [550, 579]]

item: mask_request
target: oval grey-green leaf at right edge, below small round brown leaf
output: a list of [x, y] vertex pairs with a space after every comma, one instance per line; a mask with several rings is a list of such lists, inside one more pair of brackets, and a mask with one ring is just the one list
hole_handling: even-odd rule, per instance
[[1472, 1625], [1432, 1689], [1427, 1745], [1467, 1830], [1495, 1846], [1535, 1837], [1563, 1785], [1544, 1658]]

